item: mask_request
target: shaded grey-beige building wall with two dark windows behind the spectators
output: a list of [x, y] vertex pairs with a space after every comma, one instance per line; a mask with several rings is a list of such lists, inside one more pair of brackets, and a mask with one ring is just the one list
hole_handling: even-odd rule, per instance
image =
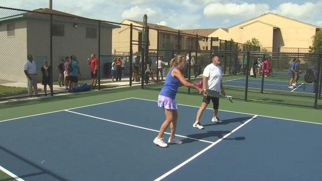
[[[53, 24], [64, 25], [64, 36], [52, 37], [53, 56], [53, 80], [58, 80], [58, 70], [56, 66], [60, 59], [65, 56], [76, 55], [81, 78], [90, 78], [90, 67], [87, 58], [91, 53], [98, 55], [98, 26], [95, 24], [85, 24], [77, 22], [78, 28], [74, 28], [75, 22], [53, 20]], [[97, 28], [97, 38], [87, 38], [86, 28]], [[112, 30], [101, 26], [101, 55], [112, 55], [111, 52]], [[44, 58], [50, 61], [50, 34], [49, 21], [30, 19], [28, 20], [28, 52], [33, 55], [37, 65], [37, 78], [41, 81], [41, 66]], [[38, 58], [37, 58], [38, 57]], [[101, 61], [101, 70], [104, 62]], [[103, 71], [101, 76], [103, 77]]]

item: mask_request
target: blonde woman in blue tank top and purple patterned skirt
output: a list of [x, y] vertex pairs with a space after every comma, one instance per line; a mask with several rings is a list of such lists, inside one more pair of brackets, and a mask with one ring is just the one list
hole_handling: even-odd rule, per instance
[[165, 84], [163, 85], [157, 100], [158, 107], [164, 108], [166, 114], [166, 120], [161, 125], [160, 131], [153, 140], [153, 143], [160, 147], [167, 147], [168, 144], [163, 140], [163, 134], [170, 125], [171, 136], [168, 143], [182, 144], [182, 141], [175, 138], [178, 112], [177, 102], [175, 100], [178, 92], [178, 87], [182, 84], [189, 88], [197, 89], [201, 94], [203, 89], [195, 86], [193, 83], [188, 82], [182, 75], [182, 70], [186, 65], [186, 58], [183, 55], [178, 55], [170, 61], [170, 71], [167, 74]]

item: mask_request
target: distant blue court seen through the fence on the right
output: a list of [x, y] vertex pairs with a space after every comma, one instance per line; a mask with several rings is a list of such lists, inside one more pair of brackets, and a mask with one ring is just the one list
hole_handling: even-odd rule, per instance
[[[246, 87], [246, 78], [237, 78], [232, 80], [226, 80], [223, 82], [224, 85]], [[298, 85], [294, 88], [288, 88], [288, 81], [279, 80], [267, 80], [264, 79], [264, 89], [270, 89], [275, 91], [289, 91], [298, 93], [312, 93], [314, 85], [313, 83], [298, 82]], [[262, 88], [262, 78], [254, 79], [250, 78], [248, 82], [250, 88]]]

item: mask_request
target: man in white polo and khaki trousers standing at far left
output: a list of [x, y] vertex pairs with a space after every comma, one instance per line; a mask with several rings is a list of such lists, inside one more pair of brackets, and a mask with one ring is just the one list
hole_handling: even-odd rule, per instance
[[28, 61], [24, 65], [24, 70], [28, 79], [28, 93], [29, 96], [32, 96], [34, 88], [35, 95], [38, 95], [36, 63], [31, 55], [28, 55], [27, 58]]

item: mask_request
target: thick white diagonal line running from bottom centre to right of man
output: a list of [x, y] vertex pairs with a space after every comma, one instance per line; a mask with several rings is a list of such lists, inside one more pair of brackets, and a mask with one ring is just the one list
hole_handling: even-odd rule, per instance
[[187, 159], [186, 161], [180, 163], [178, 166], [172, 168], [171, 170], [169, 170], [167, 173], [159, 176], [158, 178], [154, 179], [154, 181], [158, 181], [158, 180], [162, 180], [163, 178], [165, 178], [166, 176], [170, 175], [171, 173], [173, 173], [174, 171], [178, 170], [179, 168], [181, 168], [182, 166], [184, 166], [185, 164], [189, 163], [190, 161], [192, 161], [193, 159], [195, 159], [197, 156], [201, 155], [202, 153], [204, 153], [205, 151], [207, 151], [208, 149], [210, 149], [211, 147], [215, 146], [217, 143], [219, 143], [220, 141], [222, 141], [223, 139], [225, 139], [227, 136], [231, 135], [233, 132], [237, 131], [239, 128], [245, 126], [247, 123], [249, 123], [250, 121], [252, 121], [254, 118], [256, 118], [257, 115], [253, 116], [253, 118], [247, 120], [244, 124], [239, 125], [237, 128], [235, 128], [234, 130], [230, 131], [230, 133], [226, 134], [225, 136], [223, 136], [222, 138], [220, 138], [219, 140], [217, 140], [216, 142], [212, 143], [211, 145], [207, 146], [205, 149], [201, 150], [200, 152], [198, 152], [197, 154], [193, 155], [192, 157], [190, 157], [189, 159]]

